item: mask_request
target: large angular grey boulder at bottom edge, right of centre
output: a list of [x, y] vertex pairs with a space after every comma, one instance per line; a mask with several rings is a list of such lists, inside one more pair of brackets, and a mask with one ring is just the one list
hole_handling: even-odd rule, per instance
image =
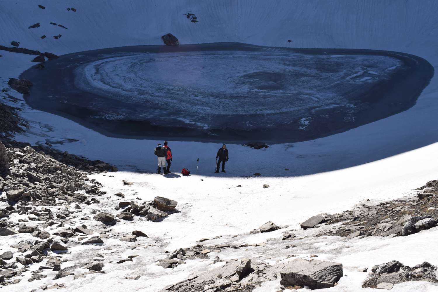
[[308, 286], [313, 290], [335, 286], [344, 273], [339, 263], [295, 259], [285, 264], [280, 275], [280, 284], [284, 287]]

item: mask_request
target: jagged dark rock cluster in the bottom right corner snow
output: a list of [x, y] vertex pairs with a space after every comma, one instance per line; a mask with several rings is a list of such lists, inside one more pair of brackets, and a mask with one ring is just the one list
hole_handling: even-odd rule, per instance
[[428, 262], [409, 267], [403, 265], [397, 260], [392, 260], [386, 264], [375, 265], [371, 271], [374, 274], [364, 282], [362, 285], [364, 288], [389, 287], [390, 285], [380, 284], [398, 284], [405, 281], [430, 281], [438, 283], [436, 275], [437, 267]]

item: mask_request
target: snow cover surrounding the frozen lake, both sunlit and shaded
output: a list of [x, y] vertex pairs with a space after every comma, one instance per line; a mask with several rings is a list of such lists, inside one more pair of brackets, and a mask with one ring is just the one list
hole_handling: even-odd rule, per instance
[[[41, 10], [37, 4], [45, 5], [46, 9]], [[67, 11], [65, 7], [74, 7], [77, 12]], [[0, 11], [0, 44], [8, 45], [15, 40], [23, 47], [57, 54], [159, 44], [161, 35], [172, 32], [181, 43], [236, 41], [263, 46], [383, 49], [423, 57], [434, 68], [438, 65], [438, 25], [435, 21], [438, 3], [435, 1], [297, 1], [292, 5], [290, 1], [243, 0], [57, 1], [56, 4], [6, 0], [0, 2]], [[198, 23], [191, 23], [183, 15], [189, 11], [196, 13]], [[40, 31], [39, 28], [27, 28], [37, 22], [41, 22]], [[59, 33], [62, 38], [51, 37]], [[43, 34], [48, 37], [40, 39]], [[0, 55], [3, 55], [0, 57], [2, 82], [8, 77], [18, 77], [32, 65], [29, 61], [33, 56], [4, 51], [0, 51]], [[140, 255], [136, 258], [138, 261], [117, 266], [109, 264], [104, 268], [106, 274], [75, 281], [72, 276], [61, 279], [67, 283], [64, 291], [107, 291], [114, 285], [123, 285], [126, 291], [156, 291], [187, 278], [194, 271], [208, 269], [212, 262], [188, 261], [174, 270], [165, 270], [153, 264], [159, 255], [164, 257], [165, 250], [193, 245], [203, 237], [223, 235], [226, 241], [230, 235], [249, 232], [267, 221], [297, 229], [300, 222], [312, 215], [343, 211], [367, 199], [379, 202], [402, 197], [428, 180], [436, 179], [437, 94], [438, 78], [434, 77], [413, 108], [341, 134], [272, 145], [264, 150], [228, 144], [230, 161], [227, 173], [219, 174], [220, 177], [212, 176], [215, 153], [220, 145], [171, 141], [169, 138], [174, 172], [187, 167], [192, 176], [175, 175], [175, 179], [168, 179], [148, 173], [155, 172], [156, 158], [152, 149], [158, 141], [105, 137], [62, 117], [33, 110], [24, 102], [21, 116], [31, 122], [31, 128], [26, 134], [18, 135], [17, 140], [44, 143], [46, 140], [78, 139], [78, 142], [54, 144], [54, 147], [102, 159], [118, 165], [121, 170], [114, 178], [102, 174], [92, 176], [104, 184], [102, 190], [109, 193], [124, 191], [128, 199], [151, 200], [162, 195], [178, 201], [181, 212], [162, 222], [134, 221], [116, 225], [115, 231], [122, 231], [125, 226], [128, 232], [141, 228], [151, 240], [160, 239], [155, 247], [132, 251], [132, 254]], [[198, 157], [200, 167], [199, 175], [196, 175]], [[260, 172], [262, 176], [252, 177], [254, 172]], [[132, 181], [134, 185], [123, 186], [122, 179]], [[270, 187], [264, 189], [264, 183]], [[94, 207], [112, 208], [112, 200], [102, 201], [100, 206]], [[269, 233], [268, 237], [278, 238], [280, 231]], [[423, 260], [438, 264], [438, 252], [434, 248], [436, 232], [434, 228], [403, 238], [373, 237], [347, 243], [330, 238], [319, 244], [312, 243], [311, 252], [297, 250], [295, 253], [302, 256], [316, 253], [322, 259], [344, 264], [348, 277], [343, 277], [339, 285], [329, 291], [362, 291], [360, 285], [366, 274], [356, 272], [359, 266], [371, 267], [392, 259], [409, 265]], [[267, 239], [263, 236], [244, 235], [240, 240], [262, 242]], [[3, 239], [1, 244], [6, 244]], [[271, 247], [272, 250], [261, 254], [278, 248]], [[94, 249], [84, 250], [84, 256], [104, 252], [101, 248]], [[123, 257], [130, 254], [126, 249], [121, 250]], [[239, 251], [230, 253], [229, 257], [255, 257], [258, 254], [258, 250], [248, 249], [248, 253]], [[141, 281], [125, 278], [131, 274], [141, 275]], [[50, 277], [43, 281], [55, 282]], [[40, 284], [41, 281], [30, 284], [21, 281], [7, 289], [30, 290]], [[268, 282], [257, 291], [278, 289], [277, 281]], [[408, 282], [396, 285], [393, 290], [438, 291], [438, 287], [425, 282]]]

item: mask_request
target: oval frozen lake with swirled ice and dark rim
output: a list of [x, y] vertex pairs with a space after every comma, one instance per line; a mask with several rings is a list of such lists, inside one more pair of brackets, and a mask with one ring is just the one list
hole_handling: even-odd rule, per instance
[[402, 53], [212, 43], [68, 54], [22, 77], [30, 106], [108, 136], [296, 142], [409, 109], [432, 76]]

